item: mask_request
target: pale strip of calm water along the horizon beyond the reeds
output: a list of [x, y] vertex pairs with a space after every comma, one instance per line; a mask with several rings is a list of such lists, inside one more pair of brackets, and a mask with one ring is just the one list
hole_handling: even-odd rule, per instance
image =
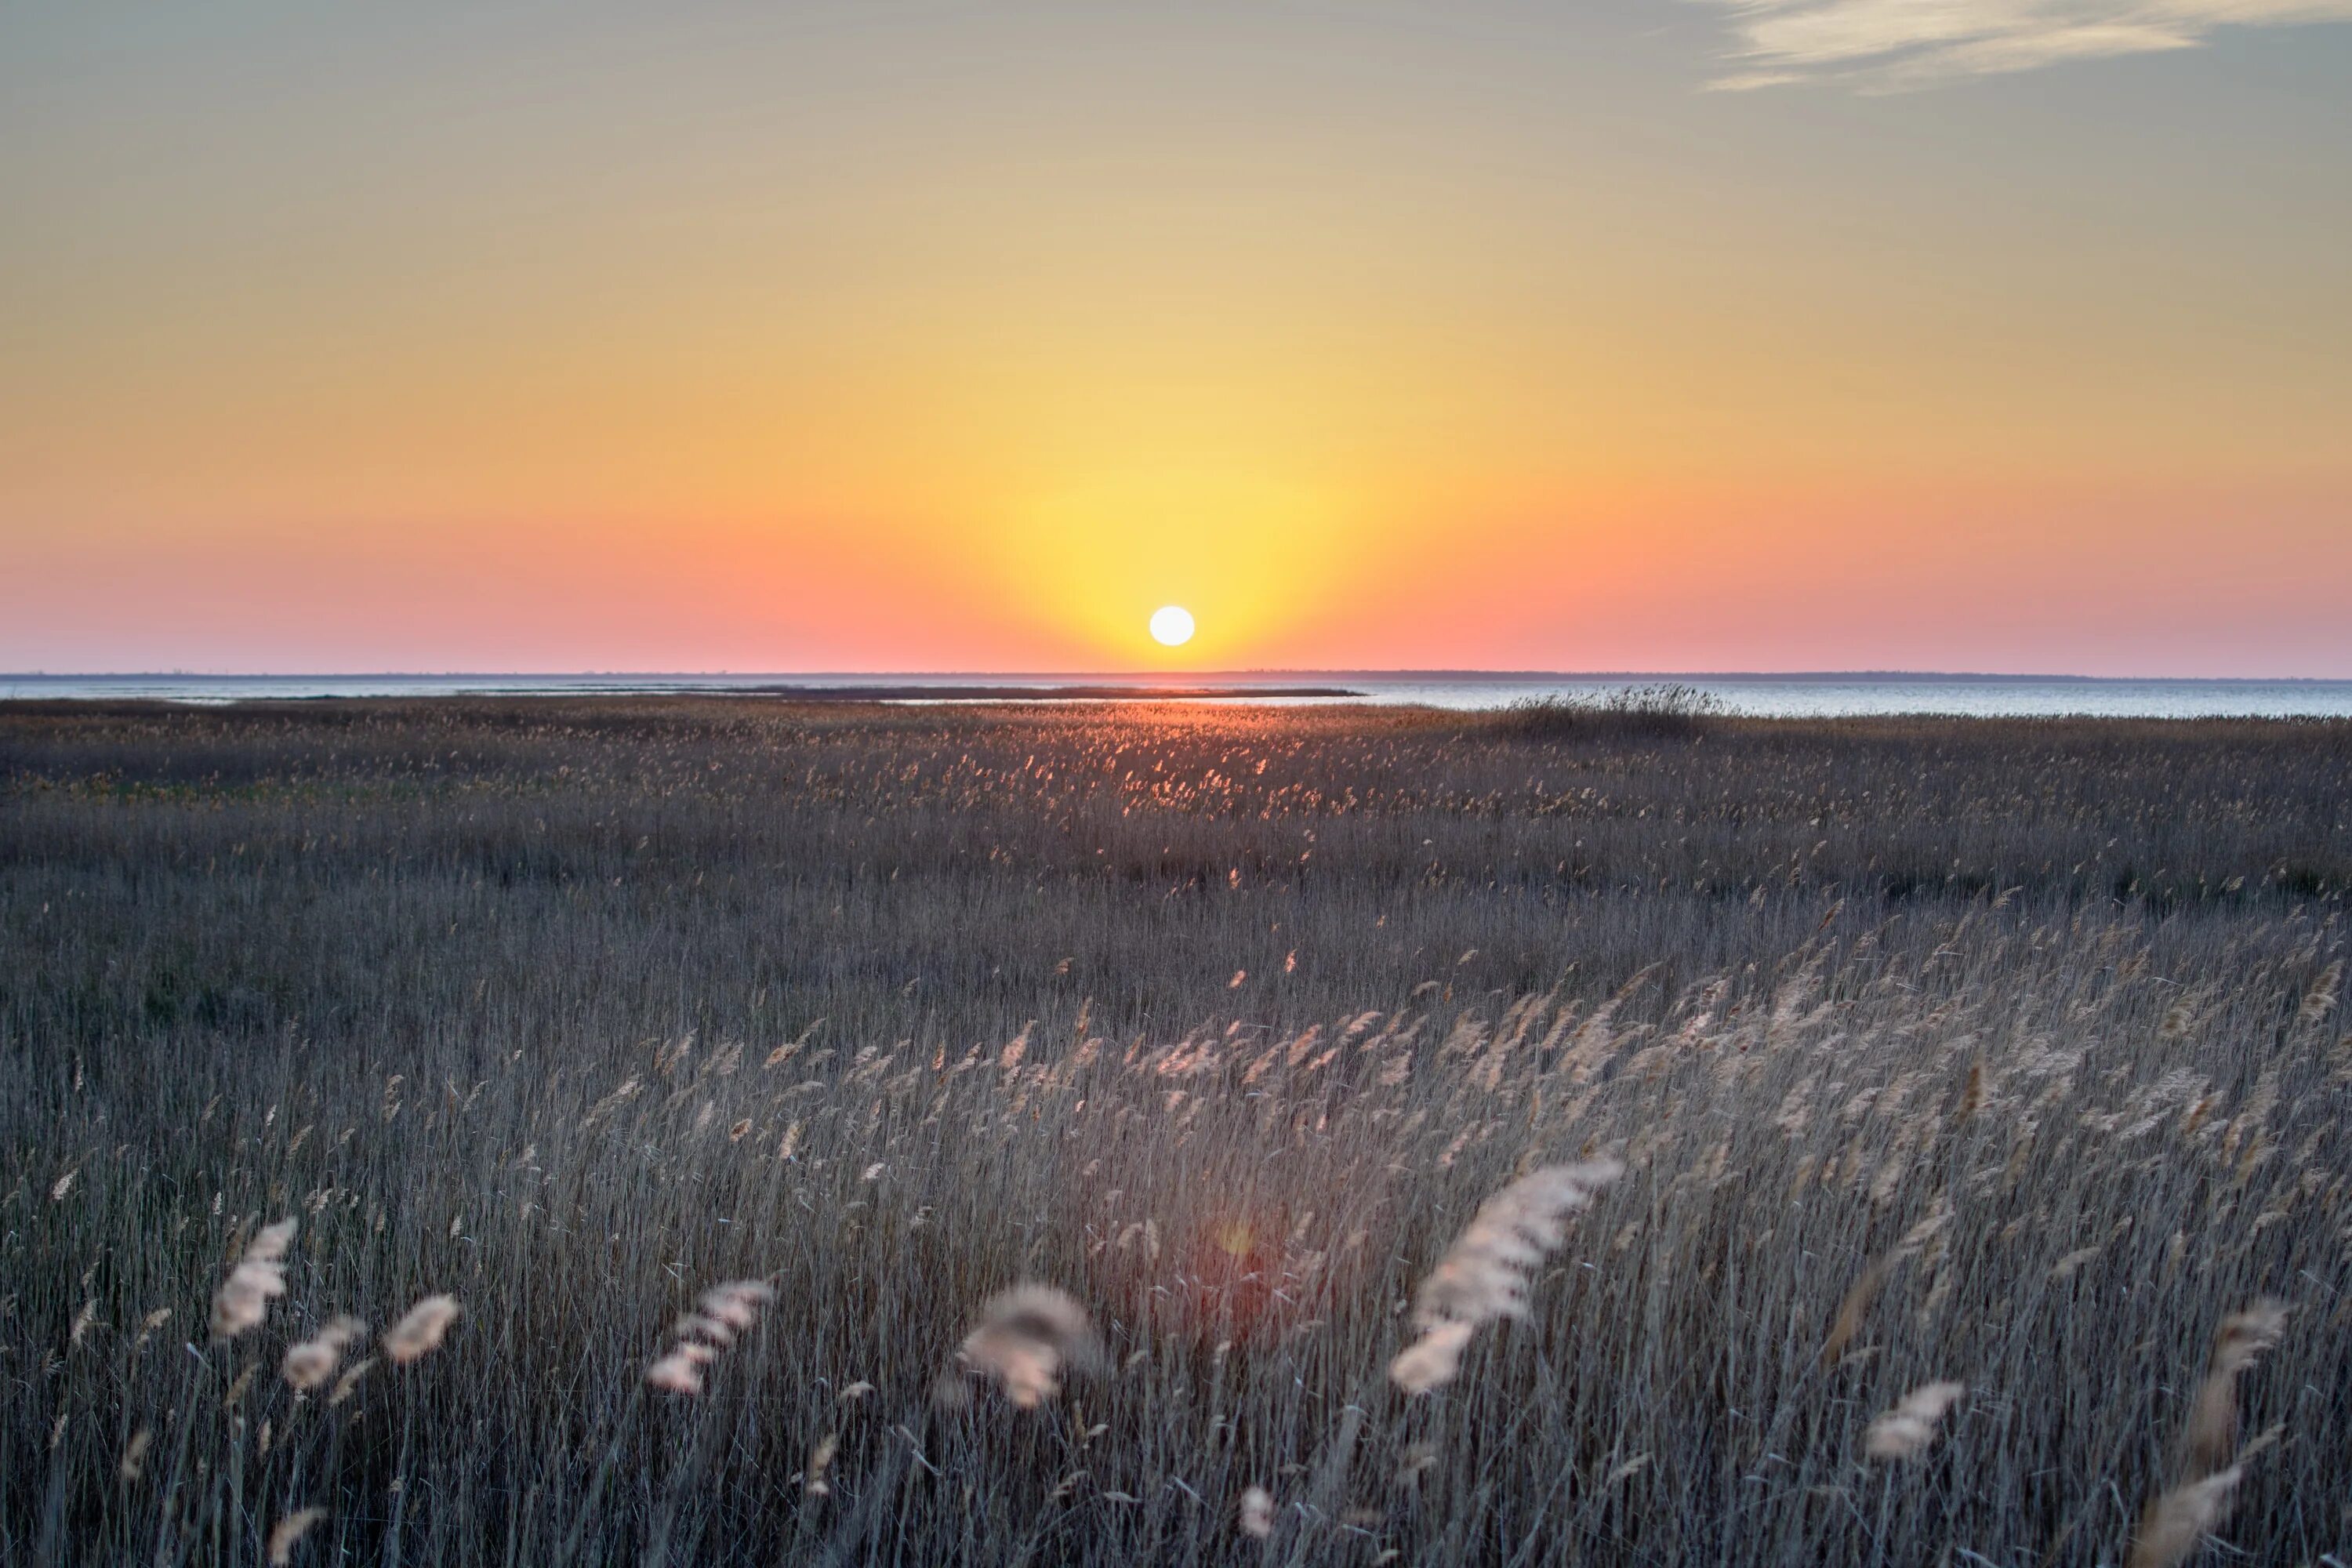
[[[1950, 715], [2328, 715], [2352, 717], [2352, 682], [2049, 679], [1983, 675], [0, 675], [0, 698], [158, 698], [238, 703], [325, 696], [489, 696], [614, 691], [760, 691], [788, 686], [990, 686], [1197, 682], [1247, 696], [1254, 686], [1345, 686], [1374, 703], [1501, 708], [1531, 696], [1606, 693], [1679, 679], [1731, 710], [1778, 717], [1856, 712]], [[1287, 698], [1329, 701], [1329, 698]]]

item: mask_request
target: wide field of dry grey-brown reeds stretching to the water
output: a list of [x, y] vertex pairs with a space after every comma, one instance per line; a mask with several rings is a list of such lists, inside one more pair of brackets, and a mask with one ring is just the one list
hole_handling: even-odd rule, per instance
[[0, 705], [5, 1563], [2352, 1563], [2352, 724]]

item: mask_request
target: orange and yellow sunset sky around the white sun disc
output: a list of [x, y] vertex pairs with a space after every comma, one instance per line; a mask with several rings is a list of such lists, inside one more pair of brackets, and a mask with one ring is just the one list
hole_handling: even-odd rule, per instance
[[2352, 0], [9, 5], [0, 240], [0, 670], [2352, 677]]

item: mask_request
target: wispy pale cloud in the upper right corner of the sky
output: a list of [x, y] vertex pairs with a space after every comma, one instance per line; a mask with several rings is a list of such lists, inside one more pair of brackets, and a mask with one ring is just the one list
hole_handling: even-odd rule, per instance
[[1750, 92], [1849, 80], [1872, 92], [2037, 71], [2070, 59], [2194, 49], [2225, 26], [2352, 21], [2352, 0], [1700, 0], [1731, 14]]

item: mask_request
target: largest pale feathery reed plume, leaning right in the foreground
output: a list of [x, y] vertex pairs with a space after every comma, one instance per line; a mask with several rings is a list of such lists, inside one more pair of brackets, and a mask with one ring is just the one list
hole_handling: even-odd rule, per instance
[[1421, 1338], [1390, 1361], [1395, 1385], [1423, 1394], [1451, 1382], [1482, 1324], [1526, 1316], [1531, 1274], [1566, 1237], [1566, 1218], [1623, 1173], [1616, 1159], [1543, 1166], [1486, 1199], [1414, 1295]]

